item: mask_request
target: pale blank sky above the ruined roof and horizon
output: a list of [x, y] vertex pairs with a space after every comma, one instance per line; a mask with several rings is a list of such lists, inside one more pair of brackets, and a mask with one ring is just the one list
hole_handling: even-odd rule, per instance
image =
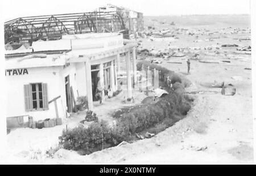
[[[254, 0], [252, 0], [254, 1]], [[108, 3], [143, 12], [144, 16], [250, 14], [250, 0], [1, 0], [4, 21], [22, 16], [93, 11]]]

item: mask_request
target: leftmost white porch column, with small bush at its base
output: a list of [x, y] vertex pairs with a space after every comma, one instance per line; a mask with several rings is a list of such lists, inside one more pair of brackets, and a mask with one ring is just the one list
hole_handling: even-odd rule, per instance
[[92, 97], [92, 72], [90, 70], [90, 59], [85, 62], [86, 71], [86, 92], [88, 100], [88, 110], [93, 110], [93, 97]]

